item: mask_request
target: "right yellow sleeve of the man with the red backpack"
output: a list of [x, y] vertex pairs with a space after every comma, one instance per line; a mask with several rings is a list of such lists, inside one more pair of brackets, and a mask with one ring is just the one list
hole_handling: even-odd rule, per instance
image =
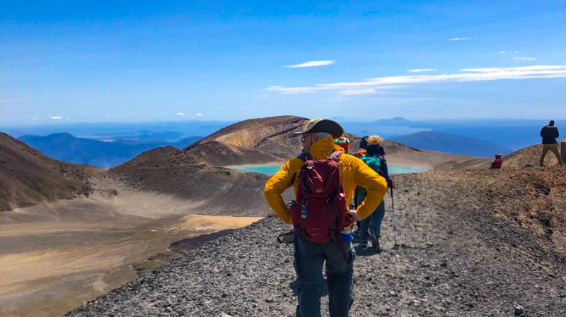
[[377, 206], [383, 201], [383, 197], [387, 191], [387, 181], [381, 175], [374, 172], [371, 167], [365, 165], [362, 160], [359, 160], [358, 170], [356, 173], [355, 182], [359, 186], [367, 189], [367, 196], [364, 201], [358, 206], [357, 214], [362, 219], [374, 213]]

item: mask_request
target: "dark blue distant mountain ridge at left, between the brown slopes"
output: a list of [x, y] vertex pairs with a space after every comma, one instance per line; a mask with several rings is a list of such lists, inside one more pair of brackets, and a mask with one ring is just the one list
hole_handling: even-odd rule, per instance
[[176, 142], [163, 140], [114, 140], [104, 142], [89, 138], [76, 138], [70, 133], [55, 133], [48, 136], [21, 136], [19, 139], [57, 160], [110, 168], [127, 162], [147, 150], [167, 145], [185, 148], [201, 138], [200, 136], [191, 136]]

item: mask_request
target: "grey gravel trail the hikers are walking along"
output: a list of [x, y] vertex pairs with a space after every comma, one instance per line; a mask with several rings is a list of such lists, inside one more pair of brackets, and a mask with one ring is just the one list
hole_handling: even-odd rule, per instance
[[[395, 176], [399, 246], [388, 194], [383, 251], [354, 240], [350, 316], [566, 316], [566, 254], [490, 213], [487, 173]], [[275, 241], [288, 230], [266, 217], [66, 316], [294, 316], [292, 245]]]

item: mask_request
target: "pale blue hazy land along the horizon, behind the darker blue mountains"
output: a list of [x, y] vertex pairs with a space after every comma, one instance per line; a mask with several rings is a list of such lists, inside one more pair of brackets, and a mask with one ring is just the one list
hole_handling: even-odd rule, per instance
[[[441, 119], [412, 121], [403, 117], [367, 121], [333, 117], [345, 131], [357, 136], [377, 134], [386, 139], [407, 136], [422, 131], [435, 131], [454, 136], [478, 138], [512, 150], [541, 143], [538, 133], [548, 124], [545, 119]], [[554, 118], [560, 138], [566, 132], [566, 119]], [[140, 123], [83, 123], [50, 124], [39, 126], [0, 126], [0, 130], [19, 138], [24, 135], [46, 136], [53, 133], [71, 133], [78, 138], [97, 140], [166, 140], [173, 142], [183, 136], [209, 136], [236, 121], [164, 121]], [[134, 131], [134, 132], [132, 132]]]

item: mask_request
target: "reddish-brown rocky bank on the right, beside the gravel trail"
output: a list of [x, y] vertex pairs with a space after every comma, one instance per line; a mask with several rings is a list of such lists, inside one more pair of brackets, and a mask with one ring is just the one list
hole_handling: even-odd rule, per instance
[[466, 186], [461, 203], [529, 230], [566, 251], [566, 167], [525, 167], [439, 173]]

